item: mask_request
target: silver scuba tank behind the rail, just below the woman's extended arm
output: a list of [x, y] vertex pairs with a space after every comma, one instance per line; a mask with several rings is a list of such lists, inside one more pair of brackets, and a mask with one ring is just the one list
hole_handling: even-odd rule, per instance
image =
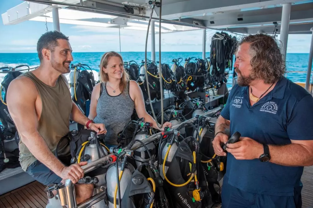
[[[145, 138], [149, 137], [149, 135], [145, 132], [145, 131], [139, 131], [136, 136], [135, 136], [135, 140], [143, 140]], [[156, 146], [153, 143], [147, 144], [146, 147], [149, 149], [150, 154], [152, 156], [152, 159], [155, 157], [155, 153], [156, 153]], [[142, 146], [141, 148], [138, 148], [134, 151], [134, 157], [136, 160], [139, 161], [135, 161], [136, 162], [136, 166], [139, 167], [141, 165], [141, 163], [149, 163], [149, 155], [147, 153], [147, 150], [144, 146]]]

